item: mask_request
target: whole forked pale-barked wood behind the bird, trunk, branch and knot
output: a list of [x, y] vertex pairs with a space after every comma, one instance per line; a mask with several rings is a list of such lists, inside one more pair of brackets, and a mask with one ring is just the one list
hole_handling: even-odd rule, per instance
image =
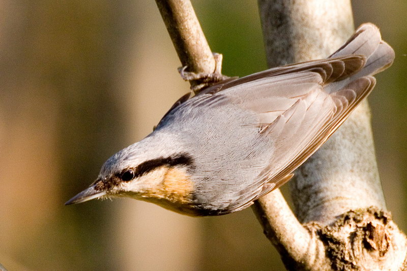
[[[214, 72], [212, 52], [191, 3], [156, 2], [182, 64], [192, 72]], [[270, 67], [326, 57], [354, 31], [349, 0], [258, 4]], [[406, 239], [385, 211], [367, 102], [296, 175], [290, 182], [296, 215], [279, 190], [254, 204], [288, 269], [405, 267]]]

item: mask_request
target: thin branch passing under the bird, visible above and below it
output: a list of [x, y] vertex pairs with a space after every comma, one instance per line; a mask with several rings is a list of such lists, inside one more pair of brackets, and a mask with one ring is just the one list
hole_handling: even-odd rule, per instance
[[[156, 0], [161, 16], [165, 22], [172, 43], [177, 50], [183, 66], [192, 67], [190, 71], [195, 73], [212, 73], [215, 69], [212, 51], [203, 35], [202, 29], [196, 18], [195, 12], [188, 0]], [[275, 210], [272, 214], [270, 207]], [[269, 237], [274, 236], [274, 244], [281, 244], [281, 252], [290, 247], [300, 248], [298, 259], [303, 257], [311, 235], [297, 221], [293, 212], [286, 204], [279, 189], [273, 191], [260, 201], [256, 202], [258, 219], [264, 220], [262, 225]], [[267, 215], [266, 215], [267, 214]], [[290, 223], [287, 223], [290, 221]], [[270, 227], [276, 225], [276, 227]], [[289, 225], [289, 227], [286, 227]], [[296, 234], [292, 234], [296, 232]], [[290, 242], [285, 242], [284, 236], [292, 236]], [[285, 242], [285, 243], [284, 243]], [[295, 242], [295, 245], [294, 243]], [[319, 243], [321, 244], [321, 243]]]

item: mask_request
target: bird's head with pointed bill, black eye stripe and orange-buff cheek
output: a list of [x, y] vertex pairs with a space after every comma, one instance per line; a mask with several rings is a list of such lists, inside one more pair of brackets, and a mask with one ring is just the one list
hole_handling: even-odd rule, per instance
[[141, 141], [110, 157], [95, 182], [65, 204], [131, 197], [185, 213], [185, 207], [192, 201], [192, 157], [159, 147], [151, 154], [146, 148]]

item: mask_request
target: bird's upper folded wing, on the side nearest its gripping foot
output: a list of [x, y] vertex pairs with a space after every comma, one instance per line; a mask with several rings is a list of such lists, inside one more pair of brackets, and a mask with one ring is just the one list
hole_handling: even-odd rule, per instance
[[[164, 115], [157, 128], [164, 123], [164, 118], [182, 109], [184, 106], [221, 106], [225, 97], [241, 101], [247, 108], [257, 111], [285, 111], [298, 98], [307, 93], [315, 84], [328, 84], [357, 73], [366, 63], [362, 55], [346, 55], [337, 58], [319, 59], [294, 65], [277, 67], [254, 73], [242, 78], [229, 78], [218, 84], [203, 89], [196, 96], [186, 94], [181, 97]], [[289, 88], [289, 89], [288, 89]], [[250, 91], [247, 91], [250, 89]], [[289, 97], [286, 97], [287, 94]], [[280, 99], [277, 101], [275, 99]], [[282, 101], [284, 100], [285, 101]], [[251, 103], [250, 103], [251, 101]], [[226, 102], [226, 101], [224, 101]], [[261, 105], [265, 106], [261, 106]], [[264, 110], [277, 104], [280, 108]], [[277, 114], [265, 115], [267, 122], [272, 122]]]

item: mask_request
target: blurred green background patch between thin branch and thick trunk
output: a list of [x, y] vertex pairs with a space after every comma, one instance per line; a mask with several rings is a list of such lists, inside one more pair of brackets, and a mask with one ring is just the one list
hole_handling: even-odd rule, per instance
[[224, 74], [244, 76], [267, 69], [256, 1], [193, 4], [212, 51], [223, 54]]

